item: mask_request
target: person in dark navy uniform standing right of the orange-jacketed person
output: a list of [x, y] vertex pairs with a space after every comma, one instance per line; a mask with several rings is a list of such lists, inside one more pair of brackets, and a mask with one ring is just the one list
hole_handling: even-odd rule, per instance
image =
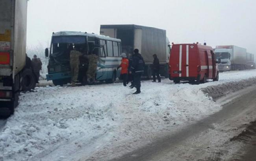
[[145, 62], [141, 54], [139, 54], [139, 49], [134, 49], [130, 73], [134, 76], [134, 85], [137, 90], [133, 94], [141, 93], [141, 75], [144, 72], [144, 66]]

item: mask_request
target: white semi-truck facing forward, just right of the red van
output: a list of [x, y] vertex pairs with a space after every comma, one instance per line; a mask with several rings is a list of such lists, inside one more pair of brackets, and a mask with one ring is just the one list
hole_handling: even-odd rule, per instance
[[221, 59], [219, 71], [245, 70], [247, 52], [245, 48], [234, 45], [216, 46], [215, 55]]

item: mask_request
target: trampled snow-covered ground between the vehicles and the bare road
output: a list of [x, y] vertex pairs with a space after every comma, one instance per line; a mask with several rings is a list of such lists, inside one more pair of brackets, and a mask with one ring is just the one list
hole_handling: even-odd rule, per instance
[[201, 88], [252, 77], [256, 70], [220, 73], [218, 82], [199, 85], [145, 80], [139, 95], [122, 83], [37, 87], [21, 93], [2, 124], [0, 161], [111, 159], [219, 111]]

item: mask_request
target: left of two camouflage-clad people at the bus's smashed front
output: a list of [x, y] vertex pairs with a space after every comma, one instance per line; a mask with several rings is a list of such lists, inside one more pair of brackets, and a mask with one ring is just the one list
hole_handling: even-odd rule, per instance
[[79, 45], [75, 46], [75, 49], [70, 51], [70, 70], [71, 70], [71, 86], [76, 86], [76, 82], [79, 74], [80, 56], [82, 53], [79, 50]]

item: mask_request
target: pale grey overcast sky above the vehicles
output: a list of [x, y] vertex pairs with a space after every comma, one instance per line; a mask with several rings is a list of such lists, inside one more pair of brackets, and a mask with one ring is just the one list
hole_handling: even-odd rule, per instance
[[174, 43], [237, 45], [256, 54], [256, 0], [30, 0], [28, 46], [52, 32], [99, 33], [100, 24], [137, 24], [167, 31]]

